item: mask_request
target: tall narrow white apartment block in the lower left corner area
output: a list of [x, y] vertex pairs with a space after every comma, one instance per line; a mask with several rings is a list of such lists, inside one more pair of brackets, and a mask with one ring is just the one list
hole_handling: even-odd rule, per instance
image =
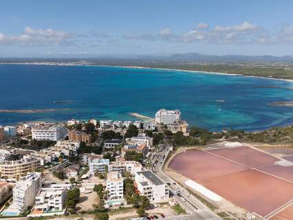
[[22, 177], [17, 181], [13, 188], [13, 202], [8, 208], [19, 210], [23, 212], [28, 207], [34, 206], [36, 195], [42, 187], [41, 173], [28, 173], [25, 177]]

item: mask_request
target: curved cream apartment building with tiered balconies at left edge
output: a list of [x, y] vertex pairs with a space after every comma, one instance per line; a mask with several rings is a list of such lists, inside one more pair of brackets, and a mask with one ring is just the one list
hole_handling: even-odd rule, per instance
[[0, 164], [2, 177], [17, 178], [35, 171], [41, 167], [41, 160], [31, 155], [25, 155], [19, 160], [12, 160]]

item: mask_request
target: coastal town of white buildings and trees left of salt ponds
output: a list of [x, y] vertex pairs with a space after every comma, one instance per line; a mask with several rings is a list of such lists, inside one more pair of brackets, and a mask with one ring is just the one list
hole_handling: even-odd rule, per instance
[[184, 189], [162, 172], [173, 151], [169, 133], [188, 135], [178, 110], [160, 109], [154, 119], [135, 122], [1, 126], [1, 217], [193, 219]]

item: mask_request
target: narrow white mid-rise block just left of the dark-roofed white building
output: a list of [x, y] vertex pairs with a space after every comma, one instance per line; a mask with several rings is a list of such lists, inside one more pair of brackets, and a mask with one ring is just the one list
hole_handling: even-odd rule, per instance
[[121, 173], [109, 172], [106, 180], [106, 190], [110, 200], [123, 199], [123, 179]]

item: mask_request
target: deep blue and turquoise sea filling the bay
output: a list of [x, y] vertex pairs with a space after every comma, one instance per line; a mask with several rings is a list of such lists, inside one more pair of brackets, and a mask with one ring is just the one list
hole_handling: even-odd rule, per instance
[[[0, 113], [0, 124], [71, 118], [135, 120], [129, 113], [153, 118], [155, 111], [165, 108], [179, 109], [190, 125], [213, 131], [255, 131], [293, 124], [293, 108], [269, 105], [292, 100], [293, 90], [288, 89], [292, 87], [284, 80], [173, 70], [0, 65], [0, 109], [69, 109]], [[74, 102], [53, 103], [61, 100]]]

